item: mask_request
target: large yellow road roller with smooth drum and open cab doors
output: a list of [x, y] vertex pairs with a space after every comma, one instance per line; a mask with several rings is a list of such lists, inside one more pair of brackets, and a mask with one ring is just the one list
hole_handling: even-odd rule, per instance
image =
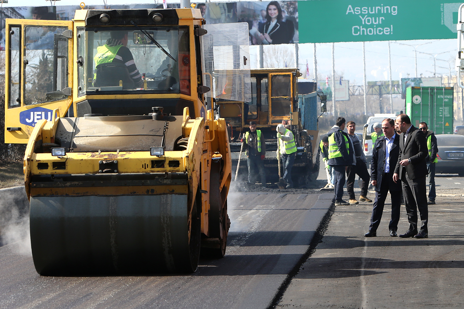
[[200, 251], [223, 257], [231, 155], [212, 88], [249, 89], [248, 25], [81, 3], [71, 21], [6, 29], [5, 142], [27, 143], [37, 272], [193, 272]]

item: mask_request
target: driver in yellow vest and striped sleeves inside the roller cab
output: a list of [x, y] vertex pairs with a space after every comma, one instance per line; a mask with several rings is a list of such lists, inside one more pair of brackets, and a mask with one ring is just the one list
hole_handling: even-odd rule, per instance
[[[134, 57], [129, 48], [127, 48], [128, 41], [127, 31], [111, 31], [111, 38], [106, 40], [106, 44], [97, 47], [97, 54], [93, 57], [95, 68], [97, 69], [97, 66], [102, 63], [123, 63], [129, 71], [129, 76], [132, 78], [135, 88], [142, 88], [142, 74], [137, 69]], [[93, 80], [94, 84], [96, 82], [97, 75], [94, 76]]]

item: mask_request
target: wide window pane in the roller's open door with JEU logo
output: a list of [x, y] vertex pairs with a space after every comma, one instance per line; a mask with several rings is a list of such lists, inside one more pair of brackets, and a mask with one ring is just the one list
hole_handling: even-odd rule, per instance
[[24, 104], [66, 99], [68, 87], [67, 27], [25, 26]]

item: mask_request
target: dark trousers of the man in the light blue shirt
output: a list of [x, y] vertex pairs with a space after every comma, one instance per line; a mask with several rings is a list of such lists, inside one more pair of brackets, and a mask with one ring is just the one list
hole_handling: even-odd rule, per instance
[[390, 220], [390, 224], [388, 224], [388, 229], [395, 232], [398, 230], [398, 222], [400, 221], [401, 192], [392, 191], [392, 189], [390, 189], [391, 177], [393, 177], [392, 173], [384, 173], [382, 175], [382, 183], [380, 183], [380, 191], [375, 191], [374, 208], [372, 208], [371, 225], [369, 226], [369, 230], [376, 231], [379, 227], [388, 191], [390, 191], [390, 196], [392, 198], [392, 219]]

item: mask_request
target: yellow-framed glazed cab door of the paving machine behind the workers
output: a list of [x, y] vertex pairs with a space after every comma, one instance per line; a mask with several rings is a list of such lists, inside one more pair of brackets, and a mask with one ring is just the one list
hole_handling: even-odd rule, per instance
[[290, 120], [294, 112], [294, 75], [289, 73], [269, 74], [269, 120], [270, 124]]

